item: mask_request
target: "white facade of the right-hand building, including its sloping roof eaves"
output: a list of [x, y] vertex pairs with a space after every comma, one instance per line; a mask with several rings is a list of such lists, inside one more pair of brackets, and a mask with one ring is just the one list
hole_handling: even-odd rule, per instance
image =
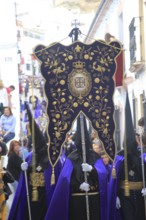
[[[140, 6], [141, 5], [141, 6]], [[140, 10], [140, 7], [142, 8]], [[90, 27], [88, 38], [86, 42], [89, 43], [93, 39], [104, 39], [106, 33], [110, 33], [116, 39], [121, 41], [125, 50], [125, 79], [124, 84], [129, 94], [130, 106], [132, 117], [133, 115], [133, 98], [136, 100], [136, 123], [140, 117], [143, 116], [142, 109], [142, 94], [146, 94], [146, 65], [145, 56], [143, 56], [143, 68], [138, 71], [130, 72], [130, 50], [129, 50], [129, 25], [133, 18], [135, 21], [141, 17], [144, 33], [142, 34], [142, 44], [140, 42], [139, 24], [136, 23], [136, 56], [137, 60], [141, 59], [139, 48], [144, 48], [146, 54], [146, 1], [145, 0], [107, 0], [104, 6], [98, 13], [94, 23]], [[92, 40], [91, 40], [92, 39]], [[140, 48], [141, 49], [141, 48]], [[120, 109], [120, 135], [121, 135], [121, 147], [124, 136], [124, 121], [125, 121], [125, 86], [115, 89], [114, 102]]]

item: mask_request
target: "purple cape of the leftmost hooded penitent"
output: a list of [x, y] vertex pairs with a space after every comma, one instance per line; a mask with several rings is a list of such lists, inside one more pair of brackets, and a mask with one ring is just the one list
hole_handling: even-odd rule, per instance
[[[29, 154], [29, 156], [27, 157], [27, 162], [28, 164], [30, 164], [32, 159], [32, 153]], [[56, 177], [56, 182], [58, 179], [58, 176], [60, 174], [61, 171], [61, 163], [58, 162], [55, 166], [55, 177]], [[50, 185], [50, 181], [51, 181], [51, 174], [52, 174], [52, 167], [49, 164], [48, 161], [48, 168], [44, 170], [44, 178], [45, 178], [45, 204], [41, 204], [40, 206], [40, 212], [43, 206], [46, 206], [46, 210], [49, 207], [54, 189], [55, 189], [55, 185]], [[28, 183], [29, 184], [29, 183]], [[31, 192], [30, 192], [31, 193]], [[44, 201], [43, 200], [43, 201]], [[30, 203], [31, 203], [31, 199], [30, 199]], [[38, 210], [39, 211], [39, 210]], [[27, 210], [27, 193], [26, 193], [26, 183], [25, 183], [25, 176], [24, 176], [24, 172], [21, 173], [20, 179], [19, 179], [19, 184], [12, 202], [12, 206], [10, 209], [10, 213], [8, 216], [8, 220], [24, 220], [27, 219], [26, 217], [26, 212], [28, 212]], [[27, 214], [28, 216], [28, 214]], [[34, 217], [35, 216], [35, 210], [31, 210], [31, 216], [32, 216], [32, 220], [35, 218], [39, 219], [39, 217]], [[39, 219], [42, 220], [42, 219]]]

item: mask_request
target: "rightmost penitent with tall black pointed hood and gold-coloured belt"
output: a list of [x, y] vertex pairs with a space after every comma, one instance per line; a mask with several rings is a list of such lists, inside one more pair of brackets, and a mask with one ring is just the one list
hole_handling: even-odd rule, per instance
[[[145, 136], [145, 138], [144, 138]], [[116, 179], [110, 178], [110, 220], [145, 220], [144, 181], [146, 181], [146, 161], [144, 161], [144, 179], [142, 158], [146, 152], [146, 134], [142, 134], [140, 144], [135, 136], [128, 93], [125, 105], [125, 137], [124, 150], [115, 158]]]

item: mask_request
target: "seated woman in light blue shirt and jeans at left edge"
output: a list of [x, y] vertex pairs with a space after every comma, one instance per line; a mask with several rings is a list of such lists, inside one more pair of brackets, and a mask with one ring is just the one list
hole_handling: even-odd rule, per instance
[[3, 142], [8, 143], [15, 137], [16, 118], [13, 116], [11, 108], [5, 107], [4, 114], [0, 118], [0, 133]]

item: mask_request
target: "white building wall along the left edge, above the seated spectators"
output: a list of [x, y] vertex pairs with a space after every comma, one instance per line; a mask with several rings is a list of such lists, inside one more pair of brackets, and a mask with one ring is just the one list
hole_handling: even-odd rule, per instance
[[12, 93], [12, 112], [17, 118], [16, 138], [20, 131], [18, 56], [15, 21], [15, 4], [13, 0], [0, 0], [0, 78], [6, 87], [15, 86]]

